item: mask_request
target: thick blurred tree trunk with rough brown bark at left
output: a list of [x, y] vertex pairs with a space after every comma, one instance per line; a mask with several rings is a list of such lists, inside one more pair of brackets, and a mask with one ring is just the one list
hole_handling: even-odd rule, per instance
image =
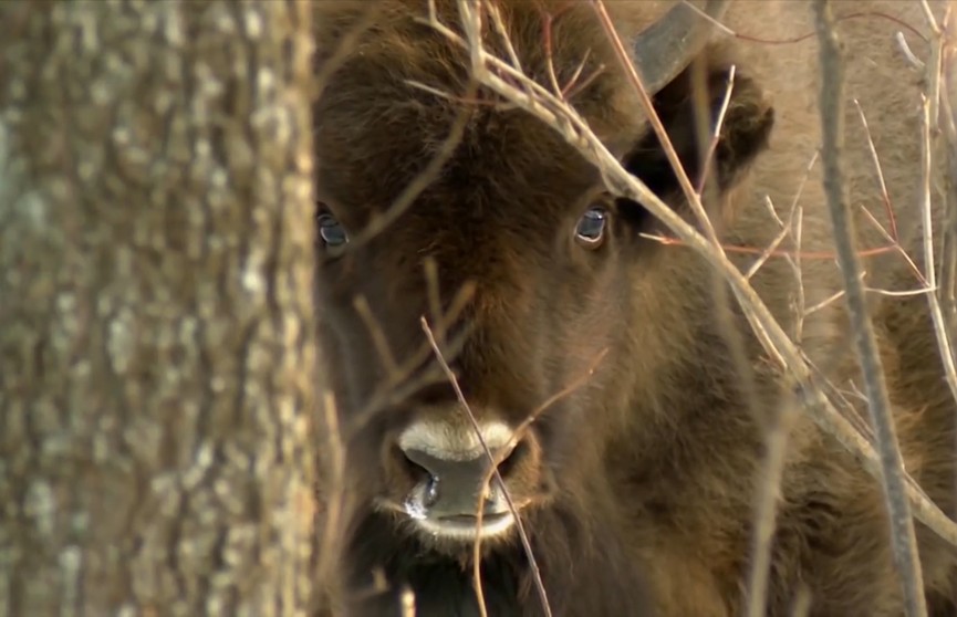
[[0, 2], [0, 617], [301, 615], [308, 2]]

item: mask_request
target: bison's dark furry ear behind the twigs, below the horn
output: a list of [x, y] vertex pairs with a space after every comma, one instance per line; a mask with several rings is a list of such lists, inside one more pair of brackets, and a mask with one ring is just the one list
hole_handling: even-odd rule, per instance
[[[730, 62], [708, 57], [706, 51], [653, 98], [658, 117], [668, 134], [691, 185], [698, 187], [703, 172], [710, 175], [718, 191], [732, 188], [755, 158], [768, 147], [774, 111], [758, 84], [740, 69], [735, 69], [730, 82]], [[721, 123], [721, 130], [705, 166], [728, 86], [731, 96]], [[706, 103], [707, 136], [699, 139], [696, 111]], [[678, 178], [655, 132], [647, 133], [624, 156], [623, 165], [666, 202], [674, 203], [682, 196]], [[684, 201], [682, 199], [682, 201]], [[637, 206], [634, 205], [633, 206]]]

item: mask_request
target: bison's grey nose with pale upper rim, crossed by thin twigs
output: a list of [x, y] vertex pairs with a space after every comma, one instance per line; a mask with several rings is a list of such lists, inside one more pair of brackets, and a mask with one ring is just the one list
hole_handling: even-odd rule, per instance
[[514, 435], [501, 425], [486, 425], [482, 433], [501, 483], [490, 473], [492, 463], [471, 427], [414, 425], [403, 431], [398, 449], [415, 482], [405, 506], [414, 519], [431, 523], [430, 529], [472, 526], [481, 508], [483, 527], [497, 517], [504, 527], [510, 514], [502, 484], [514, 496], [538, 481], [532, 440], [512, 447]]

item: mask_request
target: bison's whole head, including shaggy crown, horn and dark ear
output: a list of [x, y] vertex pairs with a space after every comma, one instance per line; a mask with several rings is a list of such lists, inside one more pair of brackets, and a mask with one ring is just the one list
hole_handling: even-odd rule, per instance
[[[535, 31], [521, 20], [541, 13], [507, 18], [520, 38]], [[687, 336], [689, 274], [680, 251], [647, 239], [657, 221], [608, 195], [554, 129], [474, 87], [461, 50], [419, 21], [388, 19], [315, 109], [320, 335], [354, 524], [457, 554], [477, 536], [491, 547], [513, 538], [507, 495], [521, 519], [614, 500], [603, 470], [627, 427], [657, 421], [641, 401]], [[684, 211], [593, 13], [573, 7], [552, 27], [558, 80], [593, 74], [572, 103]], [[548, 83], [539, 50], [518, 51]], [[703, 57], [714, 121], [729, 64]], [[656, 104], [695, 180], [689, 75]], [[740, 72], [724, 126], [711, 166], [721, 194], [771, 127]]]

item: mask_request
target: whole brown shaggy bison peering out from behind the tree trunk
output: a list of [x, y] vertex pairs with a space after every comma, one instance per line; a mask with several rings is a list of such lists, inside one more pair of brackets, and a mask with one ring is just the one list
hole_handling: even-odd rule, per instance
[[[439, 20], [461, 32], [455, 2], [436, 4]], [[592, 3], [495, 4], [512, 48], [486, 13], [487, 48], [507, 60], [513, 52], [545, 87], [551, 57], [554, 81], [610, 151], [695, 220]], [[732, 2], [724, 13], [721, 4], [707, 9], [741, 36], [701, 46], [686, 6], [666, 13], [647, 0], [606, 3], [695, 184], [708, 148], [693, 101], [700, 93], [710, 103], [714, 127], [735, 67], [707, 175], [709, 211], [726, 245], [761, 249], [781, 230], [767, 205], [783, 220], [801, 208], [800, 247], [794, 233], [779, 249], [808, 255], [802, 276], [773, 257], [751, 282], [821, 374], [851, 393], [860, 375], [842, 300], [809, 310], [841, 280], [833, 259], [813, 257], [833, 254], [833, 241], [820, 165], [808, 177], [820, 144], [818, 49], [801, 36], [813, 32], [810, 3]], [[922, 84], [894, 33], [907, 24], [926, 59], [914, 32], [929, 40], [929, 28], [919, 2], [835, 4], [849, 62], [851, 203], [887, 223], [856, 98], [906, 227], [902, 241], [919, 237], [909, 226], [919, 220]], [[477, 535], [488, 614], [543, 613], [501, 485], [482, 490], [485, 442], [502, 461], [552, 614], [740, 615], [767, 431], [797, 404], [792, 381], [734, 301], [716, 299], [699, 257], [649, 238], [666, 228], [610, 195], [556, 130], [470, 84], [468, 52], [425, 23], [427, 0], [316, 7], [326, 77], [315, 108], [318, 297], [346, 447], [345, 499], [341, 511], [330, 505], [342, 543], [323, 555], [340, 575], [337, 613], [401, 615], [409, 589], [417, 615], [478, 615]], [[939, 18], [939, 3], [932, 7]], [[370, 236], [441, 153], [447, 159], [407, 210]], [[863, 216], [856, 227], [862, 248], [886, 243]], [[916, 242], [908, 248], [920, 253]], [[759, 258], [732, 254], [742, 270]], [[865, 268], [871, 287], [917, 284], [895, 252]], [[464, 289], [470, 293], [459, 295]], [[950, 511], [955, 406], [927, 301], [871, 300], [907, 470]], [[444, 355], [481, 440], [422, 327], [426, 316], [438, 328], [437, 307], [454, 311]], [[404, 364], [412, 370], [395, 366]], [[867, 417], [860, 397], [850, 394], [847, 405]], [[932, 613], [954, 615], [955, 554], [922, 525], [917, 536]], [[790, 615], [802, 589], [814, 616], [903, 614], [880, 483], [803, 409], [790, 431], [769, 577], [770, 616]]]

